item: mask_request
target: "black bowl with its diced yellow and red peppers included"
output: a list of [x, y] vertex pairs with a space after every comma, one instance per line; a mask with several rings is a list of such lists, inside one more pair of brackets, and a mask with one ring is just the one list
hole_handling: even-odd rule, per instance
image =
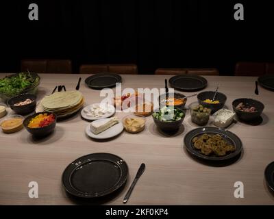
[[39, 112], [25, 118], [23, 124], [33, 136], [45, 137], [54, 131], [56, 116], [53, 113]]

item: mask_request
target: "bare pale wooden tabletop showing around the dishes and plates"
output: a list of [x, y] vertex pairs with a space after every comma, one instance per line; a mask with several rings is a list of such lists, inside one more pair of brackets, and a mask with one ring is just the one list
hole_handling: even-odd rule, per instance
[[[0, 75], [3, 77], [4, 75]], [[99, 90], [84, 84], [88, 75], [40, 75], [38, 99], [50, 94], [56, 85], [74, 90], [82, 77], [80, 91], [86, 104], [101, 100]], [[122, 75], [123, 88], [163, 88], [164, 79], [171, 76]], [[274, 196], [264, 181], [264, 168], [274, 161], [274, 93], [260, 88], [254, 94], [255, 77], [206, 76], [208, 87], [227, 95], [226, 106], [240, 97], [259, 99], [265, 105], [264, 122], [258, 126], [235, 123], [229, 130], [242, 140], [243, 153], [232, 165], [214, 167], [192, 159], [182, 146], [185, 134], [197, 127], [184, 119], [184, 130], [177, 136], [165, 136], [147, 118], [145, 131], [130, 134], [125, 131], [108, 142], [95, 142], [84, 132], [88, 122], [74, 116], [57, 124], [50, 138], [36, 141], [23, 129], [18, 133], [0, 133], [0, 204], [1, 205], [71, 205], [62, 188], [64, 168], [77, 157], [90, 153], [114, 153], [129, 166], [129, 180], [123, 192], [106, 204], [121, 205], [129, 184], [142, 162], [147, 166], [138, 181], [130, 205], [273, 205]], [[188, 103], [196, 97], [188, 99]], [[188, 104], [187, 103], [187, 104]], [[122, 118], [123, 113], [116, 114]], [[211, 126], [211, 125], [210, 125]], [[29, 198], [28, 184], [38, 182], [38, 198]], [[245, 198], [234, 198], [234, 183], [244, 183]]]

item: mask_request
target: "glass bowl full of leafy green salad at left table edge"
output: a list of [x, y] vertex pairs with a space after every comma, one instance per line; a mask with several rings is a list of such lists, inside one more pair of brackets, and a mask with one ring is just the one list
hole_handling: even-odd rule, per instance
[[36, 73], [16, 73], [0, 79], [0, 98], [3, 101], [18, 94], [36, 94], [40, 77]]

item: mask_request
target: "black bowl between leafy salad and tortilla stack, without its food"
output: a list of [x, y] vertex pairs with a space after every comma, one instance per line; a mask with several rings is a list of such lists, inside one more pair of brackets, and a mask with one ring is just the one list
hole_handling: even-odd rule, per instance
[[[32, 103], [27, 105], [15, 106], [14, 104], [18, 102], [25, 101], [26, 99], [31, 99]], [[20, 94], [18, 96], [14, 96], [8, 100], [8, 105], [10, 108], [16, 112], [16, 114], [25, 115], [31, 112], [34, 112], [36, 108], [36, 96], [34, 94]]]

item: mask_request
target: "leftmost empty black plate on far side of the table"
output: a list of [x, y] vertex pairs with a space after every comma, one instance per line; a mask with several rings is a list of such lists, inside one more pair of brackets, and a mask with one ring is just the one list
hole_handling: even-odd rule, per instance
[[97, 73], [85, 80], [86, 85], [93, 89], [113, 88], [121, 81], [121, 76], [115, 73]]

